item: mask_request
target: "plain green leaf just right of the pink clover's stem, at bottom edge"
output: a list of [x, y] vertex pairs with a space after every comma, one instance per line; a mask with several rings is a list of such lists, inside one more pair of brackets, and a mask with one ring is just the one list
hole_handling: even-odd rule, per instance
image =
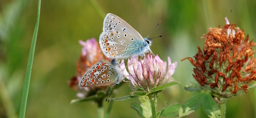
[[166, 108], [164, 108], [163, 112], [161, 113], [161, 116], [168, 118], [178, 118], [180, 107], [181, 104], [169, 105]]

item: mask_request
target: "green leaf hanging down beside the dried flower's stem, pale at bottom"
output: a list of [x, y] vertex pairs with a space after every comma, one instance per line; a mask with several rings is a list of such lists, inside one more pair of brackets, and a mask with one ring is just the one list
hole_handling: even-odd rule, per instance
[[203, 109], [210, 118], [220, 118], [220, 108], [208, 92], [204, 95]]

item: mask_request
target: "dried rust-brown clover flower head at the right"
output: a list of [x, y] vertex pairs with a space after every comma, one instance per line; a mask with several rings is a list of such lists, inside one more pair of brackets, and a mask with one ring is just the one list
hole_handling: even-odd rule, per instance
[[[194, 68], [193, 77], [204, 89], [223, 97], [246, 93], [248, 87], [256, 80], [255, 59], [249, 35], [244, 37], [244, 30], [229, 24], [223, 29], [209, 28], [204, 34], [204, 50], [198, 48], [194, 59], [188, 59]], [[182, 60], [185, 60], [182, 59]]]

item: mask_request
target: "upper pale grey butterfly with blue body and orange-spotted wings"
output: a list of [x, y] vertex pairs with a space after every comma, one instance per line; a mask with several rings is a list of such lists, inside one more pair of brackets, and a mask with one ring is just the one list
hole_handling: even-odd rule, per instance
[[146, 52], [152, 53], [149, 48], [151, 38], [142, 38], [132, 26], [111, 13], [104, 19], [99, 43], [103, 54], [109, 59], [125, 59], [145, 55]]

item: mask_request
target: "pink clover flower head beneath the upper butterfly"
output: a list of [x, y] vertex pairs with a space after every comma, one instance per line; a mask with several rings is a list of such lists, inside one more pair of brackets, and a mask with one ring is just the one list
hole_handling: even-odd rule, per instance
[[138, 56], [131, 57], [127, 65], [130, 74], [125, 69], [124, 60], [121, 61], [120, 68], [123, 69], [124, 76], [131, 81], [132, 89], [149, 92], [155, 87], [171, 82], [177, 62], [171, 63], [171, 58], [168, 57], [167, 65], [158, 55], [147, 53], [142, 59]]

